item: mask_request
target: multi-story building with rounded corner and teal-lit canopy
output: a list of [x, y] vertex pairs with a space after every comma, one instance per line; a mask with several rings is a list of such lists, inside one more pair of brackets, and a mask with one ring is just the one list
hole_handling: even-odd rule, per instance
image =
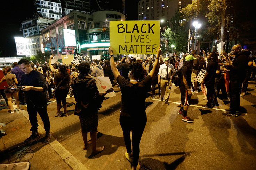
[[[61, 19], [55, 21], [50, 26], [42, 30], [43, 43], [52, 49], [54, 55], [71, 54], [72, 45], [66, 45], [66, 35], [75, 37], [74, 48], [79, 49], [79, 53], [86, 56], [100, 55], [108, 56], [107, 49], [109, 43], [109, 21], [125, 20], [122, 12], [111, 10], [100, 10], [92, 14], [86, 14], [80, 11], [72, 11]], [[65, 35], [68, 30], [74, 30], [73, 33]], [[61, 52], [57, 47], [61, 47]]]

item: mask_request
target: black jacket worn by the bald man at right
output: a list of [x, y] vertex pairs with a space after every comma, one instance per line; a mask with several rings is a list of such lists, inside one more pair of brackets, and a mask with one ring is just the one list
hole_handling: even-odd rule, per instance
[[230, 70], [230, 81], [242, 82], [246, 77], [246, 70], [248, 66], [248, 56], [241, 52], [237, 54], [232, 65], [227, 66]]

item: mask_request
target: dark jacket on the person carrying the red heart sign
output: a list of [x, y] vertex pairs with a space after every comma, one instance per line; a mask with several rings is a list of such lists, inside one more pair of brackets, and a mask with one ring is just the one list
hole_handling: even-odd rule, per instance
[[95, 80], [89, 76], [78, 75], [72, 80], [72, 91], [77, 102], [75, 115], [90, 114], [90, 111], [98, 111], [104, 100], [104, 93], [99, 93]]

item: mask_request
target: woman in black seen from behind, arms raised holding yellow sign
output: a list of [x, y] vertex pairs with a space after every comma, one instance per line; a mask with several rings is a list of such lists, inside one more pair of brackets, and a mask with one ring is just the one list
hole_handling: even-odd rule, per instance
[[[157, 70], [159, 54], [162, 51], [161, 48], [158, 49], [153, 69], [145, 78], [141, 63], [135, 62], [130, 64], [128, 73], [130, 81], [119, 74], [115, 66], [111, 47], [109, 47], [108, 52], [110, 54], [111, 70], [122, 92], [122, 107], [119, 122], [123, 130], [123, 138], [127, 150], [125, 157], [132, 162], [133, 169], [139, 169], [139, 143], [147, 122], [145, 112], [147, 87], [151, 85], [152, 77]], [[137, 101], [136, 108], [131, 107], [131, 103], [135, 100]], [[130, 139], [130, 132], [133, 136], [132, 139]], [[131, 150], [131, 144], [133, 145], [133, 152]]]

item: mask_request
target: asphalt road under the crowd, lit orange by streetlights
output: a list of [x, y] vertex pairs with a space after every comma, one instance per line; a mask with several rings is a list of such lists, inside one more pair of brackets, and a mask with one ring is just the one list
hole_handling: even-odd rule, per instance
[[[192, 95], [188, 116], [193, 123], [183, 122], [178, 115], [179, 89], [171, 88], [170, 105], [158, 95], [146, 98], [147, 124], [141, 139], [139, 163], [151, 170], [160, 169], [256, 169], [256, 82], [248, 84], [241, 97], [241, 115], [223, 116], [229, 100], [220, 100], [220, 106], [202, 108], [206, 104], [202, 92]], [[67, 99], [68, 117], [54, 117], [56, 102], [47, 106], [51, 135], [87, 169], [130, 169], [125, 158], [125, 144], [119, 123], [120, 89], [114, 86], [116, 96], [103, 101], [99, 110], [97, 146], [105, 150], [91, 156], [91, 146], [83, 150], [79, 117], [74, 115], [74, 97]], [[137, 108], [136, 101], [131, 107]], [[63, 111], [63, 108], [61, 109]], [[39, 123], [43, 125], [38, 116]], [[88, 138], [90, 135], [88, 135]], [[56, 151], [58, 153], [58, 151]], [[75, 169], [71, 166], [71, 169]]]

